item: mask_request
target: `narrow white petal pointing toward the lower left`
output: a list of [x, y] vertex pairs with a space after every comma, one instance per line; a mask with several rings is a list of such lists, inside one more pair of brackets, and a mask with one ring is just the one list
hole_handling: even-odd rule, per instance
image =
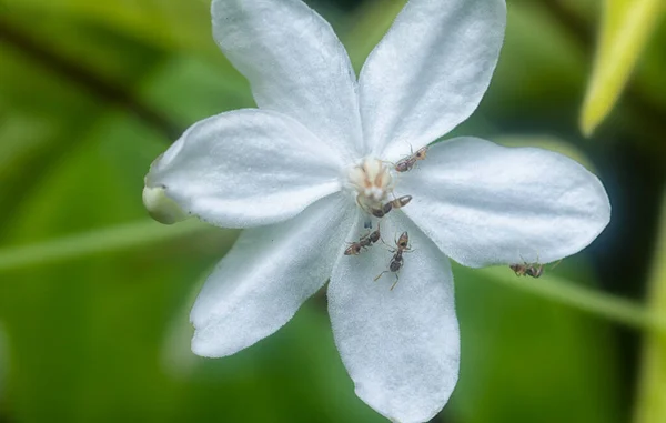
[[192, 351], [231, 355], [282, 328], [331, 274], [355, 216], [334, 194], [289, 222], [244, 231], [192, 309]]

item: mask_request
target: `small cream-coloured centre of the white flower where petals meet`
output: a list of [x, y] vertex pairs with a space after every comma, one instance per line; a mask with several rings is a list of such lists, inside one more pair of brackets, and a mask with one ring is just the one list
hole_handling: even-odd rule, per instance
[[366, 212], [381, 210], [383, 201], [393, 191], [391, 168], [374, 158], [365, 158], [361, 164], [352, 167], [347, 180], [356, 192], [356, 202]]

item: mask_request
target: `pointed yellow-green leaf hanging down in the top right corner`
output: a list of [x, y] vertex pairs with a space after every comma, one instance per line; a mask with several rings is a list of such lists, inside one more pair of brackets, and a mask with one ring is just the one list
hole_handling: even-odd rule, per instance
[[663, 11], [663, 0], [606, 0], [594, 70], [581, 113], [581, 129], [586, 135], [613, 109]]

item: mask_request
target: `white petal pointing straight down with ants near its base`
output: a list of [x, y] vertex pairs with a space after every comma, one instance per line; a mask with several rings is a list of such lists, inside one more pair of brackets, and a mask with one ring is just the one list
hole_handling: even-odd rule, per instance
[[[433, 417], [458, 375], [460, 334], [448, 259], [400, 211], [384, 219], [382, 234], [407, 231], [400, 281], [386, 270], [392, 253], [375, 244], [335, 263], [329, 285], [333, 335], [356, 394], [394, 422]], [[352, 236], [353, 238], [353, 236]]]

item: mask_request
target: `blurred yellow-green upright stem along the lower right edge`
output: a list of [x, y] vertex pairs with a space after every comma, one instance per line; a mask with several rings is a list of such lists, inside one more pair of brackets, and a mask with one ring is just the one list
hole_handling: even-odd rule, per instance
[[[662, 228], [653, 256], [648, 308], [666, 319], [666, 192], [662, 207]], [[643, 370], [638, 384], [635, 423], [666, 422], [666, 332], [646, 335]]]

